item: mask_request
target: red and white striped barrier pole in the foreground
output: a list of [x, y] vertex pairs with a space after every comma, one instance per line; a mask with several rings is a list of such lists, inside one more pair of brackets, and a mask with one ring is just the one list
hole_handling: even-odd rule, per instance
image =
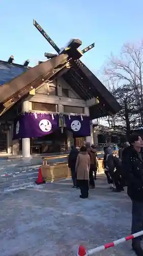
[[89, 250], [89, 251], [87, 251], [86, 252], [86, 250], [85, 250], [85, 248], [84, 248], [84, 251], [86, 252], [85, 254], [81, 254], [80, 253], [80, 251], [83, 251], [83, 246], [82, 246], [82, 250], [80, 250], [80, 246], [79, 246], [79, 248], [78, 248], [78, 256], [89, 256], [89, 255], [92, 255], [92, 254], [94, 254], [94, 253], [96, 253], [96, 252], [99, 252], [99, 251], [103, 251], [103, 250], [106, 250], [106, 249], [108, 249], [108, 248], [110, 248], [110, 247], [114, 247], [114, 246], [116, 246], [116, 245], [118, 245], [118, 244], [121, 244], [121, 243], [124, 243], [124, 242], [126, 242], [126, 241], [129, 241], [129, 240], [132, 240], [133, 238], [137, 238], [137, 237], [140, 237], [140, 236], [142, 236], [143, 235], [143, 230], [142, 231], [140, 231], [140, 232], [137, 232], [137, 233], [134, 233], [134, 234], [130, 234], [130, 236], [128, 236], [128, 237], [126, 237], [126, 238], [121, 238], [121, 239], [118, 239], [118, 240], [116, 240], [116, 241], [114, 241], [114, 242], [111, 242], [111, 243], [107, 243], [107, 244], [104, 244], [104, 245], [101, 245], [101, 246], [99, 246], [99, 247], [96, 247], [96, 248], [94, 248], [94, 249], [91, 249], [91, 250]]

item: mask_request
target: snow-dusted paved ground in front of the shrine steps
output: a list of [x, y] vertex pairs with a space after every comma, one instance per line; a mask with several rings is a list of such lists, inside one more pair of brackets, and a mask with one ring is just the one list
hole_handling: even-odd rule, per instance
[[[112, 193], [104, 178], [89, 199], [80, 199], [71, 181], [35, 186], [0, 195], [1, 256], [76, 256], [130, 233], [131, 203]], [[130, 242], [96, 254], [132, 256]]]

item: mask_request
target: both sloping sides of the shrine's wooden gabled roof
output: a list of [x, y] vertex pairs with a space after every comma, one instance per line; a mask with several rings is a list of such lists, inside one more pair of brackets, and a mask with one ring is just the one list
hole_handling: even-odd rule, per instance
[[68, 55], [64, 53], [34, 68], [26, 69], [22, 65], [11, 65], [0, 60], [0, 113], [6, 112], [43, 81], [56, 78], [61, 72], [63, 78], [82, 99], [98, 97], [99, 104], [90, 107], [92, 119], [120, 111], [121, 107], [116, 99], [80, 60], [72, 61], [70, 69], [66, 68], [67, 61]]

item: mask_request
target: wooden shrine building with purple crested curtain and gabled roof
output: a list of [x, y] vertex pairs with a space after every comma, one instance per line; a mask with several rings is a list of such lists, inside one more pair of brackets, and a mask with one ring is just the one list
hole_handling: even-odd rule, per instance
[[25, 158], [68, 151], [85, 141], [93, 144], [92, 120], [120, 111], [116, 99], [79, 60], [84, 53], [80, 45], [72, 39], [33, 68], [28, 60], [14, 63], [13, 56], [0, 60], [0, 154]]

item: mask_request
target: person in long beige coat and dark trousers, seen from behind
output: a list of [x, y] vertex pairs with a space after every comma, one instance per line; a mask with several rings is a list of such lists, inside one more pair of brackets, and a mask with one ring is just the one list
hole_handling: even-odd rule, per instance
[[90, 156], [85, 146], [81, 146], [80, 153], [76, 159], [75, 172], [77, 174], [77, 184], [80, 188], [80, 198], [88, 198], [89, 196], [89, 171]]

